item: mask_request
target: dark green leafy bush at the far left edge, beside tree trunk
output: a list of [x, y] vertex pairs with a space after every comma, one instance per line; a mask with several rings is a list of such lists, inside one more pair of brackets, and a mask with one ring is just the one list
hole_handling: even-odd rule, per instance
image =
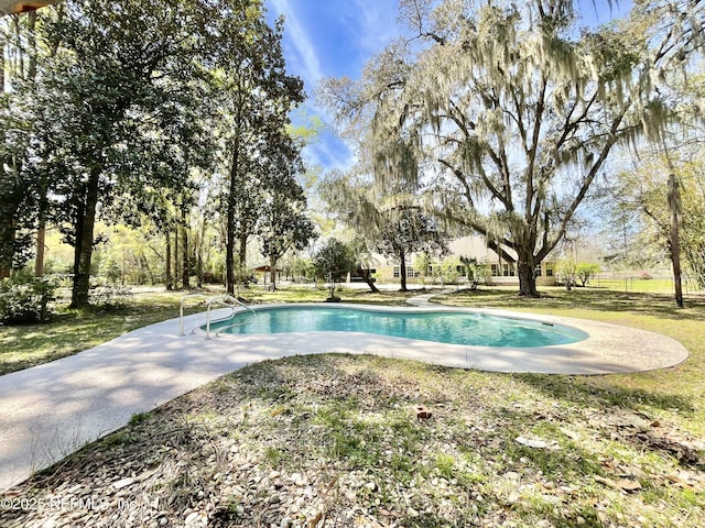
[[58, 287], [55, 279], [18, 276], [0, 282], [0, 321], [31, 324], [51, 318], [48, 304]]

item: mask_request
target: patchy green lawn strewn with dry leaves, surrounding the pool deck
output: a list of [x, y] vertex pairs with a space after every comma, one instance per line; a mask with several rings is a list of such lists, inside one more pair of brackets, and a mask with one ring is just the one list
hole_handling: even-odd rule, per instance
[[[704, 299], [690, 297], [676, 310], [660, 294], [545, 293], [518, 299], [513, 290], [480, 288], [436, 300], [651, 330], [681, 341], [691, 358], [608, 376], [495, 374], [348, 355], [267, 361], [135, 415], [13, 493], [37, 501], [93, 494], [130, 505], [72, 518], [73, 526], [183, 526], [187, 518], [208, 526], [705, 526]], [[397, 293], [341, 297], [405, 300]], [[150, 304], [143, 315], [161, 310]], [[105, 317], [87, 322], [113, 316]], [[78, 336], [91, 333], [73, 320]], [[32, 329], [37, 349], [50, 331], [56, 327]], [[416, 419], [419, 405], [430, 419]], [[4, 515], [42, 526], [54, 513]]]

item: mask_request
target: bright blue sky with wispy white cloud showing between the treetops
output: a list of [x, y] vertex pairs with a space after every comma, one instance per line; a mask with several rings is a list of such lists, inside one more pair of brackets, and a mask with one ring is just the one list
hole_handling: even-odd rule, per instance
[[[623, 12], [631, 1], [581, 0], [586, 23], [608, 22]], [[359, 78], [365, 63], [394, 37], [402, 34], [398, 23], [399, 0], [265, 0], [269, 16], [285, 16], [284, 55], [291, 74], [304, 80], [313, 95], [324, 77]], [[311, 98], [305, 110], [325, 114]], [[352, 152], [332, 132], [325, 132], [317, 144], [306, 148], [308, 163], [324, 170], [347, 168], [354, 163]]]

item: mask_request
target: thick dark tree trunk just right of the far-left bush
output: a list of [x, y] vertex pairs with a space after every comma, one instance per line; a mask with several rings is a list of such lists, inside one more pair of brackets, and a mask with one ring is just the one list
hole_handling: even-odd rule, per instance
[[93, 257], [94, 227], [98, 205], [99, 172], [93, 169], [76, 218], [76, 246], [74, 248], [74, 284], [70, 308], [88, 306], [90, 290], [90, 258]]

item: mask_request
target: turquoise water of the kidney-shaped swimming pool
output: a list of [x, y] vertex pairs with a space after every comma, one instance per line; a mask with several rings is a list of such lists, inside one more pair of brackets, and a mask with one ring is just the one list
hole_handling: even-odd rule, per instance
[[313, 306], [259, 308], [253, 318], [250, 312], [239, 312], [230, 319], [213, 322], [210, 331], [240, 334], [366, 332], [480, 346], [546, 346], [587, 338], [587, 333], [571, 327], [486, 314], [398, 312]]

